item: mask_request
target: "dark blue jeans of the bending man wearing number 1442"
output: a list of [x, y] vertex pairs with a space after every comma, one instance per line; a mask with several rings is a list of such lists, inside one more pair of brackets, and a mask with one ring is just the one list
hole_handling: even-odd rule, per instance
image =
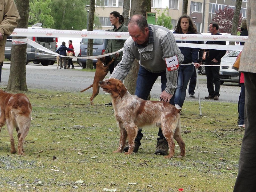
[[[165, 71], [161, 72], [161, 73], [152, 73], [140, 66], [138, 78], [137, 78], [137, 82], [136, 82], [135, 95], [137, 95], [141, 99], [147, 100], [148, 95], [150, 94], [150, 91], [151, 91], [154, 83], [156, 82], [156, 79], [158, 78], [158, 76], [161, 76], [161, 84], [162, 84], [161, 92], [163, 92], [166, 88], [166, 83], [167, 83]], [[161, 92], [159, 92], [159, 96], [160, 96]], [[174, 97], [172, 97], [170, 103], [172, 105], [174, 105]], [[142, 139], [142, 136], [143, 136], [141, 131], [142, 131], [142, 129], [139, 129], [137, 137], [135, 138], [135, 141], [137, 141], [139, 144], [141, 144], [140, 140]], [[158, 131], [157, 135], [160, 137], [157, 140], [164, 139], [164, 135], [163, 135], [160, 127], [159, 127], [159, 131]]]

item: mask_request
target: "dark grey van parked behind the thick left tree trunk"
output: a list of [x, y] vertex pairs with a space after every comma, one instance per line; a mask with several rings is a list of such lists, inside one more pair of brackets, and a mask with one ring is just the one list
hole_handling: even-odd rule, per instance
[[[42, 27], [29, 27], [29, 28], [30, 29], [48, 29], [48, 28], [42, 28]], [[35, 41], [36, 43], [44, 46], [45, 48], [53, 52], [56, 52], [57, 50], [57, 42], [58, 42], [57, 37], [28, 37], [28, 39]], [[12, 49], [12, 36], [7, 37], [5, 49], [10, 49], [10, 50], [4, 51], [5, 59], [10, 60], [11, 49]], [[41, 62], [42, 65], [48, 66], [48, 65], [53, 65], [55, 63], [56, 56], [49, 55], [49, 53], [36, 49], [35, 47], [28, 44], [26, 64], [28, 64], [28, 62], [30, 61], [33, 61], [35, 64], [39, 64]]]

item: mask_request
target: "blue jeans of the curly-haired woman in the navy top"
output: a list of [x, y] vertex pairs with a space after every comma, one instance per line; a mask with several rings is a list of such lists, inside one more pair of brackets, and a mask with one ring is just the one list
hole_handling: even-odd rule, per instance
[[[183, 76], [182, 76], [182, 87], [180, 90], [180, 100], [179, 100], [179, 106], [182, 107], [184, 100], [186, 98], [186, 93], [187, 93], [187, 87], [188, 87], [188, 82], [193, 75], [194, 72], [194, 65], [183, 65]], [[180, 84], [180, 78], [179, 78], [179, 84]], [[175, 94], [176, 95], [176, 94]], [[175, 96], [176, 98], [176, 96]]]

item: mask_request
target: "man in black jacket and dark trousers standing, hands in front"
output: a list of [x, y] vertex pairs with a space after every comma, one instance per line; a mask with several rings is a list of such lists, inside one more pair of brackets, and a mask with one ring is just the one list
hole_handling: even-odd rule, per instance
[[[211, 23], [209, 31], [212, 35], [221, 35], [219, 33], [218, 23]], [[207, 41], [206, 44], [226, 45], [226, 41]], [[226, 54], [225, 50], [208, 49], [206, 51], [205, 64], [206, 65], [220, 65], [220, 59]], [[220, 67], [205, 67], [208, 97], [205, 99], [219, 100], [220, 96]], [[213, 87], [214, 84], [214, 87]], [[215, 88], [215, 90], [214, 90]]]

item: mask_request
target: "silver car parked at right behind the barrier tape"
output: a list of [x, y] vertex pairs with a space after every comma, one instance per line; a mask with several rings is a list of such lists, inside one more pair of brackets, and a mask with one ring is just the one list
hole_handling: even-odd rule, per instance
[[238, 71], [232, 69], [239, 53], [240, 51], [231, 51], [221, 58], [220, 84], [223, 84], [224, 82], [239, 83]]

